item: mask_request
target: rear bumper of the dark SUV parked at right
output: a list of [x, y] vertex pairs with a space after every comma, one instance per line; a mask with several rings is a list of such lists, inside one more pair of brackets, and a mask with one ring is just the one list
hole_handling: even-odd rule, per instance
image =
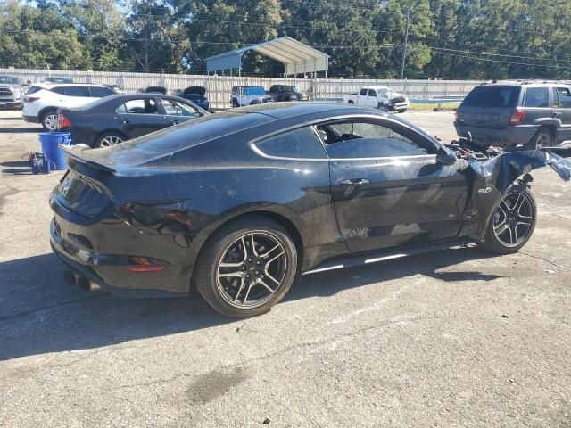
[[502, 129], [469, 127], [454, 123], [458, 136], [468, 138], [472, 136], [474, 144], [497, 145], [509, 147], [517, 144], [527, 144], [539, 129], [539, 125], [518, 125]]

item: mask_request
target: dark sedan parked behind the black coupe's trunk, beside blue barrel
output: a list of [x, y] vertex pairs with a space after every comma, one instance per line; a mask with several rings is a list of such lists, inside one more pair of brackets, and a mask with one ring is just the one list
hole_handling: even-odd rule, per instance
[[107, 147], [210, 114], [172, 95], [112, 95], [79, 108], [58, 110], [58, 128], [72, 144]]

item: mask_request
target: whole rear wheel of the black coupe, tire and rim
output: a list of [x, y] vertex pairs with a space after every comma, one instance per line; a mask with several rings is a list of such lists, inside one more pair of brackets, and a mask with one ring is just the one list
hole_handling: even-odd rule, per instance
[[[258, 236], [259, 240], [264, 238], [269, 239], [269, 236], [271, 236], [271, 239], [275, 240], [274, 242], [281, 245], [275, 252], [271, 252], [266, 260], [269, 259], [270, 256], [275, 257], [274, 254], [283, 249], [284, 261], [282, 261], [281, 256], [277, 259], [277, 263], [283, 268], [283, 276], [280, 275], [282, 280], [277, 283], [278, 285], [270, 282], [268, 277], [264, 276], [264, 274], [268, 273], [268, 270], [264, 270], [260, 275], [263, 281], [273, 284], [275, 290], [270, 292], [268, 296], [261, 297], [259, 300], [254, 300], [252, 304], [248, 304], [247, 299], [251, 290], [258, 290], [258, 293], [268, 293], [268, 290], [264, 286], [261, 284], [256, 285], [258, 278], [254, 275], [253, 269], [261, 270], [262, 268], [256, 267], [254, 263], [258, 263], [258, 261], [252, 261], [250, 256], [247, 256], [248, 251], [252, 253], [252, 246], [249, 244], [252, 242], [250, 240], [252, 234], [253, 236]], [[255, 240], [255, 238], [252, 239]], [[238, 247], [244, 248], [243, 244], [246, 246], [247, 251], [232, 251]], [[248, 247], [248, 245], [250, 245], [250, 247]], [[268, 245], [268, 247], [270, 246], [271, 244]], [[258, 242], [257, 246], [254, 243], [253, 247], [257, 249], [257, 251], [267, 251], [268, 248], [264, 247], [260, 242]], [[242, 259], [243, 255], [244, 259]], [[261, 254], [260, 257], [262, 255], [263, 254]], [[228, 259], [228, 257], [234, 256], [238, 259], [237, 263], [236, 259]], [[258, 255], [256, 255], [255, 258], [258, 259]], [[228, 262], [228, 260], [230, 261]], [[247, 262], [250, 263], [246, 265]], [[270, 263], [273, 263], [273, 261], [269, 261], [265, 269], [270, 268], [270, 266], [277, 266], [275, 263], [273, 265], [270, 265]], [[228, 269], [236, 269], [236, 274], [241, 274], [242, 276], [227, 274], [227, 277], [220, 277], [219, 275], [224, 274], [221, 273], [220, 269], [227, 269], [221, 267], [222, 264], [233, 264], [234, 266]], [[242, 266], [238, 268], [236, 264]], [[196, 260], [193, 282], [204, 300], [219, 313], [227, 317], [255, 317], [268, 312], [272, 306], [283, 299], [285, 293], [288, 292], [294, 283], [296, 270], [297, 250], [285, 227], [270, 218], [249, 216], [236, 218], [236, 220], [220, 227], [218, 231], [211, 235]], [[231, 273], [234, 274], [234, 272]], [[274, 273], [275, 272], [273, 272], [272, 275]], [[259, 274], [259, 271], [256, 270], [255, 274]], [[252, 277], [247, 280], [245, 277], [250, 275]], [[228, 277], [231, 279], [228, 279]], [[246, 284], [246, 281], [249, 281], [249, 283]], [[239, 301], [242, 298], [244, 298], [243, 303]]]

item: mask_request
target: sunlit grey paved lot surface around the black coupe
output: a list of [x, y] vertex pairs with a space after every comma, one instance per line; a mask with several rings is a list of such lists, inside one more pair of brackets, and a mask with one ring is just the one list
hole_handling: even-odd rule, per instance
[[[452, 113], [405, 113], [443, 141]], [[37, 126], [0, 111], [0, 426], [571, 426], [571, 184], [534, 171], [515, 255], [304, 276], [268, 314], [62, 281]]]

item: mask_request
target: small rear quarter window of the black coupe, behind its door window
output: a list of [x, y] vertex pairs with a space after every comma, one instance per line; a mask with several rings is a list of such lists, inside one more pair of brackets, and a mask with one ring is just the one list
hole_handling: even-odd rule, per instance
[[299, 159], [327, 159], [323, 145], [310, 127], [270, 136], [256, 147], [269, 156]]

